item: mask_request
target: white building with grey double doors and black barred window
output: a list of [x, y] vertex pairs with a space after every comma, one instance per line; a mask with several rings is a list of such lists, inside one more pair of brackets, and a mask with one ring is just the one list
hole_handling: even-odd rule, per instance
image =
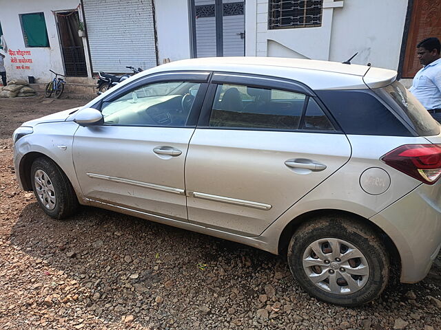
[[431, 0], [156, 0], [155, 10], [159, 63], [240, 52], [342, 62], [358, 53], [351, 63], [412, 78], [418, 41], [441, 38], [441, 2]]

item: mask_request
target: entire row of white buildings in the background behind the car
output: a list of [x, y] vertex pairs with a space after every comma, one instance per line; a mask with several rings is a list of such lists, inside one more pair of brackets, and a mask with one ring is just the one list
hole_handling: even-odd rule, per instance
[[[371, 63], [412, 78], [415, 46], [441, 37], [430, 0], [0, 0], [10, 78], [90, 83], [205, 56], [283, 56]], [[79, 31], [80, 30], [80, 31]]]

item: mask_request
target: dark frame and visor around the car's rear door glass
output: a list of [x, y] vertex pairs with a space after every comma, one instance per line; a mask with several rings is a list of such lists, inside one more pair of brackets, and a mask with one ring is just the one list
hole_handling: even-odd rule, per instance
[[[216, 89], [218, 85], [232, 84], [232, 85], [244, 85], [245, 87], [256, 88], [270, 88], [279, 89], [282, 91], [289, 91], [292, 93], [305, 94], [305, 103], [303, 104], [302, 117], [300, 118], [298, 129], [270, 129], [270, 128], [252, 128], [252, 127], [225, 127], [225, 126], [209, 126], [209, 118], [212, 114], [212, 106], [214, 98], [216, 97]], [[317, 102], [318, 107], [327, 116], [329, 122], [334, 126], [335, 131], [322, 131], [318, 129], [300, 129], [302, 121], [305, 117], [307, 110], [307, 102], [309, 98], [313, 98]], [[327, 133], [327, 134], [342, 134], [343, 131], [336, 122], [334, 116], [331, 115], [329, 110], [324, 106], [320, 98], [316, 96], [314, 91], [300, 82], [295, 80], [288, 80], [285, 78], [276, 78], [269, 76], [258, 76], [252, 74], [238, 74], [227, 72], [214, 72], [212, 78], [209, 81], [207, 93], [205, 94], [205, 100], [201, 108], [201, 114], [199, 115], [197, 129], [227, 129], [238, 131], [288, 131], [288, 132], [302, 132], [302, 133]]]

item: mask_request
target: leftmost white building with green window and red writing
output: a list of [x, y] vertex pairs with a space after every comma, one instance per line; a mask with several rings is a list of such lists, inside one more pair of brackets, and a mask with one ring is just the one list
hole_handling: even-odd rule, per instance
[[0, 0], [0, 25], [8, 46], [8, 78], [47, 83], [52, 71], [85, 83], [92, 78], [88, 45], [79, 36], [78, 0]]

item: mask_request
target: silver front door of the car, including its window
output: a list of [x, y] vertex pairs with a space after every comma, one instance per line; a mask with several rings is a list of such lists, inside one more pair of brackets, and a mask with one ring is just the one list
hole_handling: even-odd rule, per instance
[[103, 124], [80, 126], [72, 147], [83, 195], [187, 221], [185, 156], [208, 76], [147, 76], [96, 104]]

